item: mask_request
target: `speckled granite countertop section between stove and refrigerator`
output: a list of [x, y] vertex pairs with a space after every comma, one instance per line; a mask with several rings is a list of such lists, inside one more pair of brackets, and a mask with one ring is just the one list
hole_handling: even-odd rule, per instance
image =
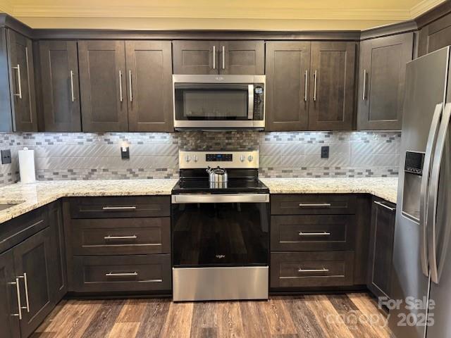
[[373, 194], [396, 203], [397, 178], [261, 178], [271, 194]]

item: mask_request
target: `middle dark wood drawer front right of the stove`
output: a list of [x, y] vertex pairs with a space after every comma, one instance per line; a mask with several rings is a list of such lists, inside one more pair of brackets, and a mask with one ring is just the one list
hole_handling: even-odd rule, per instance
[[354, 215], [271, 216], [271, 251], [345, 251], [354, 242]]

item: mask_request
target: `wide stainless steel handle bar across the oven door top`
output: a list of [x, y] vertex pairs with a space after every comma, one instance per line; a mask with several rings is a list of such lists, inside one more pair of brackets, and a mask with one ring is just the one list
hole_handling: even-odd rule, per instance
[[180, 194], [172, 195], [172, 203], [269, 203], [269, 194]]

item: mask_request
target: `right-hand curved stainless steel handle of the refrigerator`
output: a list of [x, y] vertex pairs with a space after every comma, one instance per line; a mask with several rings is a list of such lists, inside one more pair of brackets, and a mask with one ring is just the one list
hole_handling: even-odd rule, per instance
[[[431, 171], [431, 183], [429, 185], [428, 202], [428, 252], [429, 268], [431, 268], [431, 280], [438, 284], [440, 271], [437, 265], [437, 204], [438, 184], [440, 178], [440, 166], [442, 163], [443, 149], [445, 148], [446, 134], [450, 125], [451, 104], [446, 104], [443, 111], [440, 130], [438, 131], [437, 145], [435, 146], [433, 165]], [[440, 269], [441, 270], [441, 269]]]

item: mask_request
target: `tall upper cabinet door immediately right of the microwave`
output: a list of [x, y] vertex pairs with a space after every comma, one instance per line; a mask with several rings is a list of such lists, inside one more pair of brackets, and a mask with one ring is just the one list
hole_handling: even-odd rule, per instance
[[310, 42], [266, 44], [266, 130], [307, 130]]

